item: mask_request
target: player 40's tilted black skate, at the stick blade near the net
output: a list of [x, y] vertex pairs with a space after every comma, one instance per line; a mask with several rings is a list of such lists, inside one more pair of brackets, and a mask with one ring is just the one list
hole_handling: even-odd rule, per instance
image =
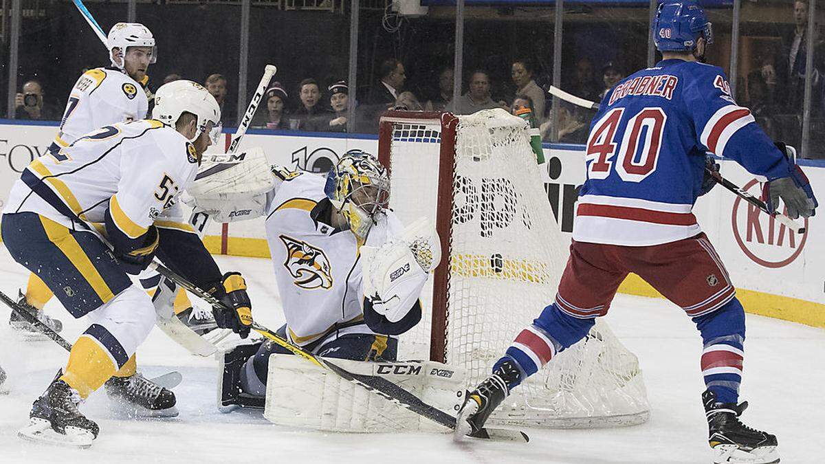
[[488, 376], [474, 391], [467, 394], [459, 416], [455, 419], [455, 433], [470, 437], [479, 435], [490, 414], [510, 394], [510, 386], [515, 385], [520, 377], [521, 372], [515, 363], [502, 362], [492, 376]]

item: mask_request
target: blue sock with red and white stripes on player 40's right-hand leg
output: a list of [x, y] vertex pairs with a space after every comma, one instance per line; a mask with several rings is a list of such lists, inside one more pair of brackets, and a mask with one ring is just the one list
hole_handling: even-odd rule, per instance
[[736, 403], [742, 382], [745, 310], [738, 299], [707, 315], [693, 318], [702, 334], [702, 375], [705, 386], [722, 403]]

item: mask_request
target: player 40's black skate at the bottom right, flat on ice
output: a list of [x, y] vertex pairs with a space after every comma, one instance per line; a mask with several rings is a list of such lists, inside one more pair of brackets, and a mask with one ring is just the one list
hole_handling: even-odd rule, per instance
[[716, 453], [714, 463], [779, 462], [775, 435], [747, 427], [739, 421], [739, 416], [747, 408], [747, 401], [740, 405], [719, 403], [714, 392], [706, 390], [702, 394], [702, 403], [705, 404], [708, 419], [708, 441]]

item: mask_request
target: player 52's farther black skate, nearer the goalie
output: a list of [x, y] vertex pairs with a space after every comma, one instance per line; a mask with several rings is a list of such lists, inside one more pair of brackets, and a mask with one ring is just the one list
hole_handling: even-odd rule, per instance
[[111, 377], [106, 381], [106, 395], [125, 412], [135, 417], [175, 417], [175, 394], [148, 380], [140, 372], [134, 376]]

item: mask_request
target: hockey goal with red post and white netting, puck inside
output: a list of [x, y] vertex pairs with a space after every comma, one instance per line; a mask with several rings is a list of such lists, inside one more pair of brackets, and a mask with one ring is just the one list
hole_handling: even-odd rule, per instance
[[[422, 292], [422, 322], [400, 337], [398, 358], [460, 365], [475, 386], [554, 301], [568, 258], [526, 123], [503, 110], [388, 111], [379, 156], [390, 171], [390, 207], [405, 224], [434, 220], [443, 255]], [[514, 389], [491, 421], [590, 428], [647, 418], [638, 359], [600, 320]]]

